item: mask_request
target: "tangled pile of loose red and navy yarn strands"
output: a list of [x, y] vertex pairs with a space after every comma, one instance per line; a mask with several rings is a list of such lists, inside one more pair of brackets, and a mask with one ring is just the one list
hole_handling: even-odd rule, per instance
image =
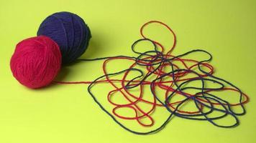
[[[173, 34], [173, 46], [168, 49], [166, 54], [164, 53], [166, 48], [160, 42], [147, 39], [143, 34], [143, 29], [148, 24], [160, 24], [168, 29], [170, 34]], [[102, 66], [104, 75], [96, 78], [93, 82], [55, 82], [58, 84], [89, 84], [88, 93], [94, 102], [116, 124], [119, 124], [122, 128], [134, 134], [152, 134], [158, 132], [174, 116], [183, 119], [207, 121], [216, 127], [224, 128], [236, 127], [239, 124], [238, 116], [245, 114], [244, 104], [249, 101], [249, 97], [231, 82], [214, 76], [214, 67], [209, 64], [212, 56], [208, 51], [195, 49], [184, 54], [173, 55], [172, 51], [176, 44], [175, 34], [168, 25], [161, 21], [147, 22], [142, 26], [140, 32], [143, 38], [134, 41], [134, 44], [132, 44], [132, 51], [138, 54], [138, 56], [109, 56], [96, 59], [78, 59], [79, 61], [104, 60]], [[152, 50], [144, 52], [137, 51], [135, 46], [141, 41], [150, 42], [153, 46]], [[200, 61], [186, 58], [190, 54], [205, 54], [207, 58]], [[132, 61], [133, 64], [122, 71], [109, 73], [106, 71], [106, 66], [109, 61], [116, 59]], [[132, 73], [137, 73], [137, 76], [134, 77]], [[134, 78], [129, 79], [130, 74]], [[117, 78], [117, 75], [122, 75], [122, 78]], [[194, 84], [194, 82], [199, 82], [199, 85]], [[214, 86], [209, 85], [209, 83], [214, 84]], [[97, 84], [109, 84], [109, 86], [114, 88], [106, 94], [106, 99], [112, 107], [111, 112], [99, 102], [92, 92], [93, 87], [96, 87]], [[145, 98], [146, 87], [150, 87], [152, 99]], [[132, 91], [136, 89], [140, 92], [134, 94]], [[157, 92], [157, 89], [162, 89], [164, 92]], [[225, 98], [220, 97], [219, 93], [225, 91], [237, 93], [238, 100], [236, 102], [230, 102], [229, 100], [232, 97], [229, 94], [225, 94]], [[119, 93], [119, 98], [124, 99], [127, 103], [121, 104], [112, 101], [112, 97], [116, 96], [116, 93]], [[175, 97], [180, 97], [180, 100], [175, 99]], [[140, 107], [141, 103], [150, 105], [150, 108], [145, 109]], [[188, 103], [192, 103], [196, 107], [196, 110], [191, 111], [181, 108]], [[235, 111], [234, 107], [240, 107], [241, 111]], [[119, 119], [134, 120], [142, 125], [142, 127], [152, 127], [155, 123], [152, 114], [156, 108], [165, 108], [169, 112], [169, 116], [163, 124], [150, 131], [138, 132], [119, 122]], [[118, 109], [132, 109], [134, 117], [118, 114], [116, 112]], [[234, 122], [232, 124], [219, 124], [218, 121], [224, 117], [232, 117]], [[142, 119], [145, 118], [149, 119], [150, 123], [146, 124], [142, 122]]]

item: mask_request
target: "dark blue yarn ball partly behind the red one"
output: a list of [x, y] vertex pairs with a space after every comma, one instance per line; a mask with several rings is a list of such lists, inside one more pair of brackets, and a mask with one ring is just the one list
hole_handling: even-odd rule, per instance
[[37, 31], [37, 36], [45, 35], [59, 46], [63, 64], [75, 61], [87, 49], [91, 31], [80, 16], [70, 12], [58, 12], [48, 16]]

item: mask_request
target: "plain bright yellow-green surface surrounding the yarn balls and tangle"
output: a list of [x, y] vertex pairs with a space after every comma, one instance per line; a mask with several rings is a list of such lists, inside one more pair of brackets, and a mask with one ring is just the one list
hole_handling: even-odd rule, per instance
[[[85, 58], [133, 55], [129, 47], [140, 38], [140, 26], [152, 19], [164, 21], [178, 36], [173, 54], [191, 49], [210, 51], [215, 75], [250, 96], [247, 114], [239, 117], [241, 124], [233, 129], [175, 117], [163, 131], [138, 136], [101, 112], [86, 85], [22, 87], [9, 69], [14, 47], [35, 36], [42, 20], [56, 11], [76, 13], [90, 26], [93, 39]], [[255, 23], [254, 0], [0, 0], [0, 142], [255, 142]], [[158, 35], [165, 44], [170, 42]], [[73, 64], [63, 68], [58, 79], [90, 81], [102, 74], [100, 69], [97, 61]], [[97, 97], [106, 99], [103, 94]]]

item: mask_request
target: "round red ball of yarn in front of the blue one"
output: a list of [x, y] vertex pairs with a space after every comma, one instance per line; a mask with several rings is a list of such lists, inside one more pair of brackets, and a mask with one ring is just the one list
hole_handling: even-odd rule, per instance
[[24, 86], [45, 87], [60, 71], [60, 48], [47, 36], [24, 39], [17, 44], [10, 66], [13, 76]]

